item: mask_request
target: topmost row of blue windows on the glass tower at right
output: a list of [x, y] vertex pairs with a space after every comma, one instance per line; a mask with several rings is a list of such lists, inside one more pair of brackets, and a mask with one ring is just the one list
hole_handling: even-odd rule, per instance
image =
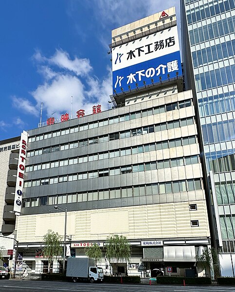
[[[187, 2], [188, 1], [186, 1], [186, 3]], [[188, 24], [218, 15], [233, 8], [235, 8], [234, 0], [210, 1], [207, 4], [203, 4], [186, 11]]]

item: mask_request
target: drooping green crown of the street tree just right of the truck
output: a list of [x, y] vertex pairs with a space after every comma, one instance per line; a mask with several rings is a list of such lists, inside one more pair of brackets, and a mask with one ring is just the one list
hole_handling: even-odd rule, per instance
[[131, 246], [126, 236], [113, 234], [106, 239], [106, 254], [109, 262], [114, 259], [118, 261], [129, 261]]

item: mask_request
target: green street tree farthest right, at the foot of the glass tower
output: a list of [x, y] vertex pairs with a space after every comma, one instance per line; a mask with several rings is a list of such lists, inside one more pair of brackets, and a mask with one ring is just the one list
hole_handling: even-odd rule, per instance
[[197, 266], [205, 270], [210, 277], [219, 276], [218, 251], [215, 248], [204, 248], [201, 255], [196, 255]]

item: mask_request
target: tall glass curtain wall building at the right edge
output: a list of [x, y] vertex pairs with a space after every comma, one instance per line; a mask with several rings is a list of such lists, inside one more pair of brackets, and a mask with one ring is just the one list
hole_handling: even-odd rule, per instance
[[181, 23], [185, 89], [198, 99], [221, 273], [234, 276], [235, 1], [181, 0]]

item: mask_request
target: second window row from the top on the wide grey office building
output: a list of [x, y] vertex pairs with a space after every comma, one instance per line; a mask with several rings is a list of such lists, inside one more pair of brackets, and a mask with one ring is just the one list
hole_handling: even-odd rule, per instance
[[103, 136], [99, 136], [99, 137], [92, 137], [92, 138], [88, 138], [88, 139], [83, 139], [83, 140], [71, 142], [68, 144], [56, 145], [56, 146], [47, 147], [47, 148], [43, 148], [43, 149], [28, 151], [27, 157], [46, 154], [46, 153], [53, 153], [53, 152], [57, 152], [60, 150], [73, 149], [73, 148], [77, 148], [77, 147], [82, 147], [82, 146], [87, 146], [87, 145], [91, 145], [91, 144], [97, 144], [97, 143], [127, 138], [127, 137], [131, 137], [131, 136], [138, 136], [138, 135], [144, 135], [144, 134], [153, 133], [153, 132], [160, 132], [160, 131], [164, 131], [164, 130], [189, 126], [189, 125], [193, 125], [193, 124], [194, 124], [194, 118], [188, 117], [188, 118], [178, 119], [178, 120], [174, 120], [174, 121], [170, 121], [170, 122], [164, 122], [164, 123], [160, 123], [160, 124], [156, 124], [156, 125], [150, 125], [150, 126], [146, 126], [146, 127], [137, 128], [137, 129], [131, 129], [131, 130], [123, 131], [123, 132], [117, 132], [117, 133], [107, 134], [107, 135], [103, 135]]

